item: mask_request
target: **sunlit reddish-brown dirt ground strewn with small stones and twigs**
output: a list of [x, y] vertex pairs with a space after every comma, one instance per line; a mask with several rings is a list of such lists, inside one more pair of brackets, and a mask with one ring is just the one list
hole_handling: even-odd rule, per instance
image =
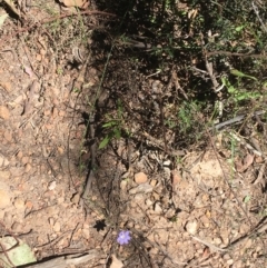
[[[43, 12], [27, 9], [39, 20]], [[240, 146], [244, 158], [231, 159], [214, 136], [178, 165], [134, 143], [126, 165], [128, 145], [115, 141], [98, 152], [82, 200], [90, 92], [73, 83], [82, 78], [92, 88], [103, 69], [83, 73], [67, 52], [58, 59], [41, 26], [29, 40], [16, 32], [8, 20], [0, 43], [1, 237], [22, 239], [38, 261], [86, 256], [50, 267], [266, 267], [264, 155]], [[120, 230], [130, 231], [126, 246], [117, 242]]]

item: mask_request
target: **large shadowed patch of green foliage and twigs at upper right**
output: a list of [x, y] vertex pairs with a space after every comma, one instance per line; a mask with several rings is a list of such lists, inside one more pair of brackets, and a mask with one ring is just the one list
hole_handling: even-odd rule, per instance
[[[221, 120], [231, 118], [239, 110], [244, 112], [244, 109], [251, 109], [255, 100], [260, 100], [265, 95], [266, 62], [259, 56], [266, 50], [267, 34], [251, 10], [251, 1], [245, 0], [240, 4], [233, 0], [123, 0], [110, 2], [111, 6], [111, 11], [122, 18], [116, 24], [116, 49], [112, 50], [112, 57], [121, 60], [128, 70], [135, 70], [137, 77], [142, 72], [147, 79], [164, 83], [160, 98], [164, 113], [167, 115], [164, 116], [165, 130], [175, 132], [177, 142], [180, 139], [182, 145], [199, 141], [204, 135], [199, 115], [204, 122], [218, 119], [218, 115]], [[260, 9], [260, 16], [266, 18], [267, 10]], [[220, 92], [215, 92], [212, 77], [207, 72], [207, 62], [212, 66], [214, 78], [219, 86], [224, 86]], [[179, 86], [175, 79], [171, 81], [174, 70]], [[110, 72], [117, 73], [117, 70]], [[123, 76], [122, 80], [125, 78]], [[130, 86], [123, 83], [123, 90], [118, 95], [126, 96], [127, 101], [129, 91], [134, 92], [131, 85], [136, 83], [136, 80], [128, 79], [130, 80], [130, 75], [125, 79]], [[144, 89], [137, 88], [134, 95], [138, 99], [138, 90]], [[146, 96], [149, 96], [149, 90], [147, 83], [144, 90]], [[139, 112], [139, 118], [144, 117], [140, 125], [145, 131], [149, 129], [149, 120], [157, 121], [158, 126], [152, 122], [151, 136], [162, 137], [159, 135], [162, 129], [159, 123], [162, 121], [155, 115], [151, 118], [146, 116], [149, 113], [146, 109], [150, 109], [148, 102], [149, 100], [146, 102], [148, 107], [146, 103], [137, 103], [140, 107], [136, 110], [134, 102], [132, 111]], [[120, 109], [125, 110], [125, 102], [120, 105]], [[105, 137], [99, 148], [120, 138], [126, 122], [130, 125], [132, 118], [129, 113], [121, 116], [119, 110], [108, 111], [102, 123]]]

